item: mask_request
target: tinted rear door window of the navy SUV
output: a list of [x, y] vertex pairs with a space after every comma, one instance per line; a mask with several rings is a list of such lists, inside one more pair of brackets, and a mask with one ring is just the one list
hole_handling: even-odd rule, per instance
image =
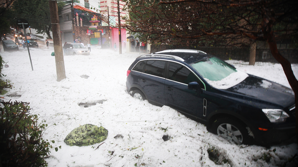
[[148, 60], [145, 65], [144, 73], [163, 77], [165, 64], [166, 62], [161, 60]]

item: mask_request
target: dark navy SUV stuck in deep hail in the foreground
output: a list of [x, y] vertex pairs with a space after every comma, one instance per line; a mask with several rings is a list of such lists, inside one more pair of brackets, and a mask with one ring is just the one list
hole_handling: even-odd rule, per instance
[[295, 136], [292, 89], [237, 70], [197, 50], [165, 50], [136, 58], [127, 91], [167, 105], [237, 144], [274, 144]]

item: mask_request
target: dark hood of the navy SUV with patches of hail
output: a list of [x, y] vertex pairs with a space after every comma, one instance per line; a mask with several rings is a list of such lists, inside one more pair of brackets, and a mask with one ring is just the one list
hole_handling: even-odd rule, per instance
[[284, 107], [294, 104], [295, 100], [292, 89], [253, 75], [226, 90]]

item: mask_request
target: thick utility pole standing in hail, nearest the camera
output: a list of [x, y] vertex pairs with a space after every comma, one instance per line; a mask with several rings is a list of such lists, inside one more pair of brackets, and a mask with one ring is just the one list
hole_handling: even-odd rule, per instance
[[61, 81], [62, 79], [66, 78], [66, 75], [65, 75], [64, 58], [63, 58], [63, 50], [62, 50], [58, 7], [57, 7], [56, 0], [49, 0], [49, 9], [50, 9], [51, 25], [52, 25], [52, 32], [53, 32], [57, 81]]

